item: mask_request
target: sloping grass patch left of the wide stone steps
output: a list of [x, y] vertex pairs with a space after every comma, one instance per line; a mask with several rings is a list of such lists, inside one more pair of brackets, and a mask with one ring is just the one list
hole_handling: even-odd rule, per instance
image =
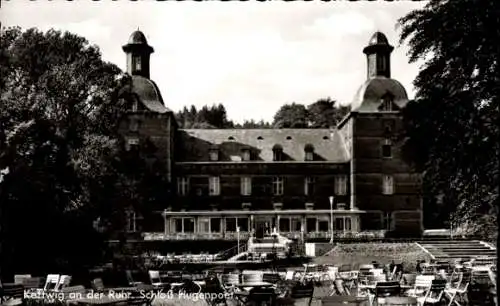
[[415, 243], [338, 243], [323, 256], [316, 257], [317, 264], [367, 264], [377, 261], [381, 264], [403, 263], [408, 270], [414, 270], [417, 260], [430, 260], [430, 256]]

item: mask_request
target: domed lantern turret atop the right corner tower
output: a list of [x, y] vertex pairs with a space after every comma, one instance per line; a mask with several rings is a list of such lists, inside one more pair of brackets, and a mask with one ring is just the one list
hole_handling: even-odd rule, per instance
[[394, 47], [389, 45], [387, 37], [381, 32], [375, 32], [368, 46], [363, 49], [367, 59], [367, 78], [391, 77], [391, 53]]

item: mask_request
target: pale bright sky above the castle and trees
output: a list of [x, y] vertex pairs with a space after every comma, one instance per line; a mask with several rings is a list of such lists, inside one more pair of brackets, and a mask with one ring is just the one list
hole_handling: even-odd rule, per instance
[[2, 26], [70, 31], [125, 70], [121, 47], [139, 28], [154, 48], [151, 79], [173, 111], [222, 103], [228, 118], [272, 121], [286, 103], [349, 104], [366, 80], [375, 31], [395, 47], [392, 78], [414, 97], [397, 20], [426, 2], [2, 1]]

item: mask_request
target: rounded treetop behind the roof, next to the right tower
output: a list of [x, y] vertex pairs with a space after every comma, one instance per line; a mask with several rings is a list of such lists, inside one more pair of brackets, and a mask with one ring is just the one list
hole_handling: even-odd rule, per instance
[[311, 128], [335, 127], [350, 111], [349, 106], [336, 105], [331, 98], [319, 99], [307, 106], [308, 121]]

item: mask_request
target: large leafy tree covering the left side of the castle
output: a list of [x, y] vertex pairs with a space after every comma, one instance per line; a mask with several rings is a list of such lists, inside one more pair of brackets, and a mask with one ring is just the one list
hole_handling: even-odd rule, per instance
[[0, 35], [2, 273], [83, 268], [101, 255], [88, 182], [113, 154], [121, 71], [68, 32]]

